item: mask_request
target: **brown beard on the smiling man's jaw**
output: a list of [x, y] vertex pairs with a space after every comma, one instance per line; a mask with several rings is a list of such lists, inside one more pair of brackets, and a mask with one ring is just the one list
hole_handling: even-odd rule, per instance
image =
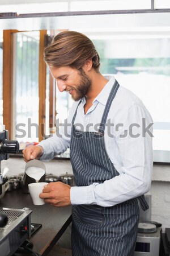
[[75, 96], [72, 95], [72, 98], [74, 101], [79, 101], [81, 98], [84, 98], [91, 86], [91, 80], [83, 71], [83, 69], [79, 69], [79, 76], [80, 76], [80, 84], [75, 89], [76, 95]]

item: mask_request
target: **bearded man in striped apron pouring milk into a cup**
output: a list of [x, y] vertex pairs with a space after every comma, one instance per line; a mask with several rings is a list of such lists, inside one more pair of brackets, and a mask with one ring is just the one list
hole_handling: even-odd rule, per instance
[[76, 102], [67, 130], [25, 148], [23, 156], [26, 162], [50, 160], [70, 147], [76, 186], [49, 183], [40, 197], [54, 207], [73, 205], [74, 256], [133, 255], [138, 202], [147, 209], [143, 194], [151, 184], [152, 118], [137, 96], [101, 75], [87, 36], [59, 33], [44, 59], [59, 91]]

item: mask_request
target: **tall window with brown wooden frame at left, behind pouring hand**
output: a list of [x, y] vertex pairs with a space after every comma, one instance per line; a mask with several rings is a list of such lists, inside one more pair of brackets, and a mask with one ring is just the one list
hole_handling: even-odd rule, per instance
[[[3, 31], [3, 123], [10, 139], [45, 138], [46, 30]], [[48, 119], [49, 121], [49, 119]]]

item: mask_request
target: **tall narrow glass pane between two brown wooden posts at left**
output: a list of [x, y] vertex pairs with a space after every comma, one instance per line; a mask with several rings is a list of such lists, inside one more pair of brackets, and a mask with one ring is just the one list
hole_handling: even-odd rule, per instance
[[15, 34], [15, 134], [39, 141], [39, 31]]

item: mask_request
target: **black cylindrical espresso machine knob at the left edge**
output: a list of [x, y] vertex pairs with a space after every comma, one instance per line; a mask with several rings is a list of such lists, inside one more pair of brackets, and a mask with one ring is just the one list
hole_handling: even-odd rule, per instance
[[18, 141], [2, 141], [0, 145], [0, 153], [2, 154], [16, 154], [19, 152], [19, 142]]

